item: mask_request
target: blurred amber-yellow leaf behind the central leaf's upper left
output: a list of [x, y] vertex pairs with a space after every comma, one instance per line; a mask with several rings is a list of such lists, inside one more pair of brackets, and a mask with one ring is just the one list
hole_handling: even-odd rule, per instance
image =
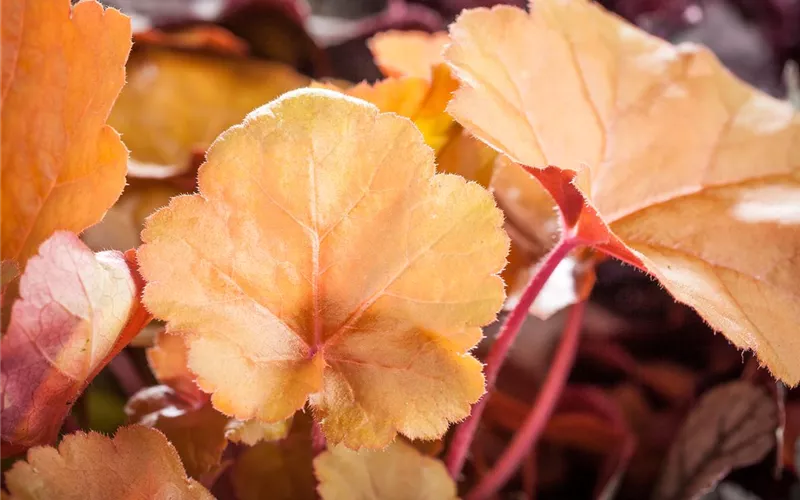
[[189, 168], [223, 130], [308, 79], [276, 62], [137, 45], [112, 124], [140, 164]]

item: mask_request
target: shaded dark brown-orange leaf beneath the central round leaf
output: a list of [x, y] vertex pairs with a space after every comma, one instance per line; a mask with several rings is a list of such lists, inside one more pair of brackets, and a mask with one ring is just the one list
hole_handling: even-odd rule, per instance
[[289, 436], [262, 441], [242, 452], [231, 471], [240, 500], [314, 500], [311, 419], [298, 414]]

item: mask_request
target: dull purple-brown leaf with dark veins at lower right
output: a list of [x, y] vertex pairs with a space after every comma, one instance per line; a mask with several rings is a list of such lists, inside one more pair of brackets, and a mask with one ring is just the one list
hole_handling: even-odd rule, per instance
[[670, 449], [653, 498], [698, 498], [731, 470], [775, 446], [775, 402], [749, 382], [715, 387], [697, 403]]

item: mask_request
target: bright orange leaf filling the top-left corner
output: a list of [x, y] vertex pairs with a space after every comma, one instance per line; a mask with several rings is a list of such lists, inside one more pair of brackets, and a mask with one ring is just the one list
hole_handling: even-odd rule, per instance
[[105, 122], [131, 28], [94, 1], [3, 2], [0, 19], [0, 260], [23, 267], [53, 231], [98, 222], [125, 186], [128, 152]]

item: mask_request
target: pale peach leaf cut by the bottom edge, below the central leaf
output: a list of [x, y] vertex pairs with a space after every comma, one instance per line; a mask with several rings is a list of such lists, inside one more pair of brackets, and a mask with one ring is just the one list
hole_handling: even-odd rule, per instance
[[448, 500], [456, 483], [444, 464], [397, 440], [384, 450], [335, 446], [314, 459], [323, 500]]

